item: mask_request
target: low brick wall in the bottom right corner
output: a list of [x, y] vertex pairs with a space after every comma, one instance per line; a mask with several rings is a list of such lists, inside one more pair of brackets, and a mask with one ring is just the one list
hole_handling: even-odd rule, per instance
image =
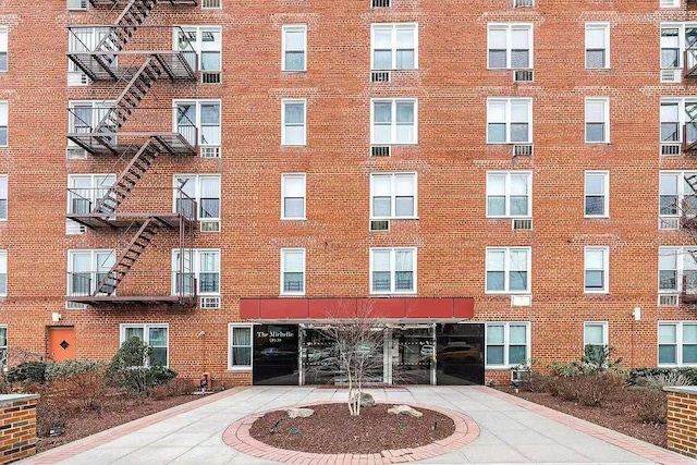
[[668, 449], [697, 458], [697, 387], [665, 387]]

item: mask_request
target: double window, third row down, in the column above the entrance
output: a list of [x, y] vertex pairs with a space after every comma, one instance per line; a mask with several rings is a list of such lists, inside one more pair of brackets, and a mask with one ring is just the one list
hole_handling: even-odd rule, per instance
[[370, 174], [370, 218], [416, 218], [416, 173]]

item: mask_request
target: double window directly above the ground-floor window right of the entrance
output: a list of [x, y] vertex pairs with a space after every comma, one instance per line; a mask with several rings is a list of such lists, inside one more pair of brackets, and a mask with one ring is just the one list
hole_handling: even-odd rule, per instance
[[530, 292], [530, 247], [487, 247], [487, 294]]

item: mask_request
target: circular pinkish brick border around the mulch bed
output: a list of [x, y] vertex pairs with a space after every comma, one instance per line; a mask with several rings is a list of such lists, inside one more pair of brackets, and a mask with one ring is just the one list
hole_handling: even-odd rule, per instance
[[[337, 402], [313, 402], [306, 406], [319, 404], [335, 404]], [[391, 402], [384, 404], [394, 405]], [[433, 407], [430, 405], [408, 404], [415, 408], [425, 408], [441, 413], [455, 424], [455, 432], [448, 438], [431, 442], [420, 448], [387, 450], [374, 454], [315, 454], [310, 452], [291, 451], [288, 449], [278, 449], [264, 442], [257, 441], [249, 436], [252, 424], [258, 418], [266, 415], [267, 412], [257, 413], [246, 416], [232, 425], [230, 425], [222, 435], [222, 440], [231, 448], [245, 454], [266, 458], [269, 461], [319, 465], [319, 464], [391, 464], [423, 461], [426, 458], [443, 455], [449, 452], [461, 449], [479, 437], [479, 426], [467, 415], [458, 412], [447, 411], [444, 408]], [[283, 408], [273, 408], [268, 412], [279, 411]]]

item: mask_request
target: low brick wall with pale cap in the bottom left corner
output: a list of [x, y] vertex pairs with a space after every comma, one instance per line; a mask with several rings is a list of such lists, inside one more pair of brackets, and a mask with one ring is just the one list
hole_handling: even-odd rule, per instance
[[36, 453], [38, 394], [0, 395], [0, 464]]

